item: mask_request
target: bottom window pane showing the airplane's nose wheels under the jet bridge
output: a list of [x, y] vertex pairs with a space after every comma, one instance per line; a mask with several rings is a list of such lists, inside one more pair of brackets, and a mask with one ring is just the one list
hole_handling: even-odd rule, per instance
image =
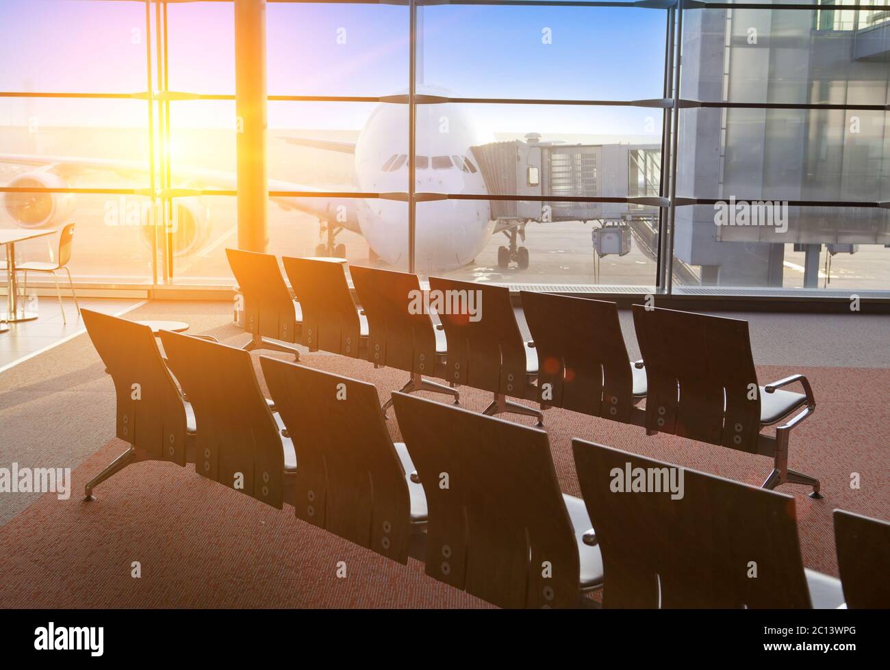
[[657, 208], [557, 200], [422, 203], [417, 271], [516, 290], [652, 287], [658, 217]]

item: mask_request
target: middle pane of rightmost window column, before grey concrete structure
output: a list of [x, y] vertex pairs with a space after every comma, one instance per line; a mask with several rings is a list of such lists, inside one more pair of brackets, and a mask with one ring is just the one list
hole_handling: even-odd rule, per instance
[[859, 110], [685, 109], [677, 193], [879, 202], [890, 188], [888, 122]]

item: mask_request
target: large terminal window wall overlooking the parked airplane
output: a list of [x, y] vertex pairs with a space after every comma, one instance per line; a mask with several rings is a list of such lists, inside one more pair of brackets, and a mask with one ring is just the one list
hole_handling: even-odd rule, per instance
[[[887, 292], [890, 13], [756, 5], [269, 3], [268, 250], [582, 292]], [[234, 21], [4, 0], [3, 225], [76, 220], [78, 280], [229, 285]]]

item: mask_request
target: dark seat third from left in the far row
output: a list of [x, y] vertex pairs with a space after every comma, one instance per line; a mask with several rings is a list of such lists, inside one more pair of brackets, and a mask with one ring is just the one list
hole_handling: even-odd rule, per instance
[[[433, 314], [417, 309], [423, 296], [417, 275], [362, 266], [353, 267], [351, 274], [368, 319], [368, 360], [375, 367], [408, 372], [409, 380], [401, 392], [443, 393], [457, 405], [460, 393], [453, 384], [425, 379], [447, 375], [448, 337], [441, 324], [433, 323]], [[384, 413], [390, 407], [392, 399], [384, 403]]]

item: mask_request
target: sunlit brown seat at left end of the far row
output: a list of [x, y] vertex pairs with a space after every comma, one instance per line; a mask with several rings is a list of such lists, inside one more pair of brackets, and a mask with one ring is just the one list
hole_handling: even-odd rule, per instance
[[271, 254], [239, 249], [227, 248], [225, 253], [243, 301], [239, 306], [244, 312], [244, 329], [251, 334], [244, 349], [285, 351], [299, 360], [300, 352], [288, 343], [298, 341], [303, 311], [290, 295], [278, 260]]

